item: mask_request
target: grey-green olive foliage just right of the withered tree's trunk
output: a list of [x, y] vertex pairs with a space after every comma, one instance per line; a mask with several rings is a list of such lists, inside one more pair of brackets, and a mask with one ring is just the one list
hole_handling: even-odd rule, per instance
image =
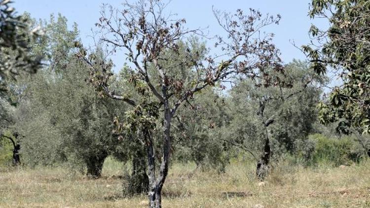
[[215, 88], [197, 93], [184, 104], [173, 121], [173, 141], [179, 161], [193, 161], [202, 171], [212, 168], [224, 172], [231, 152], [220, 140], [229, 125], [226, 96]]

